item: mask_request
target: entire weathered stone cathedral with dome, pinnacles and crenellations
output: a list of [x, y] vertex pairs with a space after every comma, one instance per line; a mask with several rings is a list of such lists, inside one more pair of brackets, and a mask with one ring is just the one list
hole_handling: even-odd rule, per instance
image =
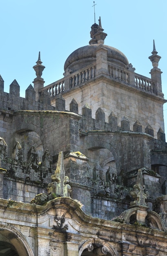
[[25, 98], [0, 76], [0, 255], [167, 256], [161, 57], [148, 78], [90, 34], [45, 87], [39, 53]]

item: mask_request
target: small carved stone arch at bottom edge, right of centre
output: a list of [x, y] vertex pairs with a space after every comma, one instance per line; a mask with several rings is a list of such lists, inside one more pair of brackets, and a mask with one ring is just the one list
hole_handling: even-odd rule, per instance
[[[99, 254], [100, 252], [100, 254]], [[107, 255], [116, 256], [114, 248], [101, 239], [89, 239], [84, 242], [79, 249], [78, 256], [94, 256], [94, 255]]]

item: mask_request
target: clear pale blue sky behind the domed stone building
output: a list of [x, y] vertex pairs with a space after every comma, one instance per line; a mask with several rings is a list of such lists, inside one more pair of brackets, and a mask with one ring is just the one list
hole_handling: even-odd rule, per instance
[[[20, 96], [36, 77], [33, 65], [41, 52], [45, 85], [63, 77], [66, 58], [75, 49], [89, 44], [94, 23], [92, 0], [0, 0], [0, 74], [4, 91], [14, 79]], [[101, 16], [108, 34], [106, 45], [122, 51], [136, 73], [150, 77], [148, 57], [153, 39], [162, 58], [162, 84], [167, 99], [167, 1], [96, 0], [96, 23]], [[167, 103], [164, 105], [167, 138]]]

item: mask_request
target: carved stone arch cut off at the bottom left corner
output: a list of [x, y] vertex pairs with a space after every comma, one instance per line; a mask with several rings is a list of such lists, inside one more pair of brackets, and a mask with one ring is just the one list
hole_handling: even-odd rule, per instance
[[0, 222], [0, 229], [0, 242], [8, 243], [13, 252], [16, 251], [16, 256], [34, 256], [31, 246], [15, 227]]

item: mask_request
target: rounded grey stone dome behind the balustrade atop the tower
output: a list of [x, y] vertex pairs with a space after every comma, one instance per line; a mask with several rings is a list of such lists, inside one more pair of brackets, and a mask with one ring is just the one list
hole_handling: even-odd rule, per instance
[[[65, 61], [64, 70], [65, 72], [76, 72], [77, 70], [82, 69], [83, 67], [88, 66], [96, 61], [96, 49], [99, 45], [96, 43], [91, 45], [86, 45], [78, 48], [74, 52], [72, 52], [67, 60]], [[125, 54], [120, 52], [118, 49], [108, 46], [102, 45], [107, 52], [107, 59], [109, 62], [119, 65], [121, 67], [125, 67], [129, 64], [127, 57]]]

